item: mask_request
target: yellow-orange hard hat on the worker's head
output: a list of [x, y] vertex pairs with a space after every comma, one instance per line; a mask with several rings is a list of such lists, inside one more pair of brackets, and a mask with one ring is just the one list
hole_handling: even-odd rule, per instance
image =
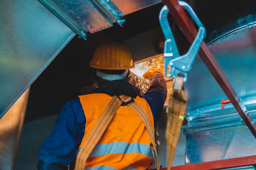
[[131, 69], [134, 67], [131, 52], [117, 43], [103, 44], [95, 50], [90, 67], [95, 69]]

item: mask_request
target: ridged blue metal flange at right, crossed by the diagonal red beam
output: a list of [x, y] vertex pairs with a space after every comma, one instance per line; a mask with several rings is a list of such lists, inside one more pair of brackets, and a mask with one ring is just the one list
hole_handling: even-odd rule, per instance
[[[252, 115], [252, 118], [255, 119], [256, 96], [243, 97], [242, 101], [250, 112], [250, 115]], [[206, 106], [203, 105], [197, 108], [196, 111], [188, 111], [186, 120], [188, 120], [188, 125], [183, 126], [184, 133], [228, 128], [245, 124], [231, 103], [222, 109], [220, 108], [220, 101], [208, 101]]]

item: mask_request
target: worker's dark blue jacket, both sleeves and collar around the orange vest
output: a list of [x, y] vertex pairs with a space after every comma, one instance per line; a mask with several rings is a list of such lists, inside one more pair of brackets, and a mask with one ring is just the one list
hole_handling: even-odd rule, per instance
[[[110, 81], [93, 93], [114, 95], [139, 95], [137, 88], [127, 81]], [[160, 74], [154, 74], [151, 85], [142, 96], [149, 103], [156, 125], [166, 100], [166, 81]], [[79, 98], [68, 101], [58, 115], [53, 132], [38, 150], [38, 169], [73, 169], [78, 148], [85, 134], [85, 113]]]

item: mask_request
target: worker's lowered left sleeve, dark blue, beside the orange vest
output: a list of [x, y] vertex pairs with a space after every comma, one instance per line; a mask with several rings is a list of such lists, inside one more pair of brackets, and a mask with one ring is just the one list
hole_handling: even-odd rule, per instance
[[85, 114], [76, 98], [63, 106], [53, 132], [38, 150], [38, 169], [68, 169], [85, 132]]

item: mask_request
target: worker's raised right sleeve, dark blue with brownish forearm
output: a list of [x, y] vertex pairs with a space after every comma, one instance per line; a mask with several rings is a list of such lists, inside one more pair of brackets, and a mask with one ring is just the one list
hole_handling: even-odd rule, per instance
[[143, 95], [151, 108], [154, 117], [154, 125], [156, 125], [166, 101], [167, 85], [161, 74], [154, 74], [149, 89]]

